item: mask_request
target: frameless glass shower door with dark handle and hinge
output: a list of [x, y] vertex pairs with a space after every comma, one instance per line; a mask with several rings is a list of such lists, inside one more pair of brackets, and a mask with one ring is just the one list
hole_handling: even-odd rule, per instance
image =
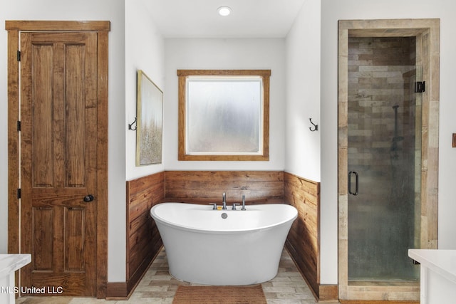
[[420, 248], [420, 67], [348, 72], [348, 281], [415, 281]]

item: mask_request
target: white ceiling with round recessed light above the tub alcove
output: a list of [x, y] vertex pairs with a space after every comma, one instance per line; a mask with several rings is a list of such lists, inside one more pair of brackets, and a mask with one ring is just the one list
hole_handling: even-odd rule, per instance
[[[283, 38], [306, 0], [143, 0], [165, 38]], [[229, 6], [232, 14], [217, 14]]]

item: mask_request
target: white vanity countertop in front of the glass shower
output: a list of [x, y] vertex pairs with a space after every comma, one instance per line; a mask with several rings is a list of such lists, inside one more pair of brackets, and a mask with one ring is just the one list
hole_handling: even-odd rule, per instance
[[456, 283], [456, 250], [409, 249], [408, 256], [422, 266]]

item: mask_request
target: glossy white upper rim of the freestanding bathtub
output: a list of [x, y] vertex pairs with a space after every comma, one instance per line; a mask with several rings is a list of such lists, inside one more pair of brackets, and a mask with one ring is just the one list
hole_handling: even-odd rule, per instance
[[[270, 225], [254, 227], [252, 229], [232, 229], [232, 230], [201, 229], [201, 228], [195, 228], [195, 227], [192, 227], [192, 226], [183, 226], [183, 225], [177, 224], [177, 223], [175, 223], [173, 221], [168, 221], [168, 220], [162, 219], [162, 217], [160, 217], [160, 216], [157, 216], [157, 214], [154, 212], [155, 209], [157, 209], [158, 206], [161, 206], [161, 205], [164, 205], [164, 204], [178, 204], [178, 205], [185, 205], [185, 206], [194, 205], [194, 206], [201, 206], [201, 207], [205, 207], [205, 205], [203, 205], [203, 204], [191, 204], [191, 203], [180, 203], [180, 202], [172, 202], [172, 201], [170, 201], [170, 202], [156, 204], [155, 206], [152, 206], [152, 208], [150, 209], [150, 216], [152, 217], [152, 219], [154, 221], [157, 221], [158, 223], [166, 225], [166, 226], [173, 227], [175, 229], [180, 229], [180, 230], [183, 230], [183, 231], [192, 231], [192, 232], [200, 233], [200, 234], [242, 234], [242, 233], [253, 232], [253, 231], [264, 231], [264, 230], [268, 230], [268, 229], [274, 229], [274, 227], [278, 227], [278, 226], [283, 226], [283, 225], [289, 224], [290, 222], [292, 223], [298, 217], [298, 210], [296, 209], [296, 207], [291, 206], [289, 204], [285, 204], [285, 203], [284, 204], [276, 204], [276, 203], [274, 203], [274, 204], [255, 204], [255, 205], [250, 205], [250, 206], [268, 206], [268, 205], [281, 206], [281, 205], [285, 205], [285, 206], [287, 206], [286, 208], [291, 207], [292, 209], [294, 209], [295, 214], [294, 214], [294, 216], [292, 216], [289, 219], [286, 219], [284, 221], [279, 221], [277, 223], [270, 224]], [[209, 208], [211, 208], [211, 207], [207, 206], [207, 208], [208, 208], [207, 210], [210, 210]], [[249, 206], [246, 206], [246, 208], [249, 208]], [[202, 209], [202, 210], [205, 210], [205, 209]], [[217, 211], [220, 212], [222, 210], [217, 210]], [[217, 211], [214, 210], [214, 212], [217, 212]], [[227, 213], [242, 212], [242, 210], [223, 210], [223, 211], [227, 212]]]

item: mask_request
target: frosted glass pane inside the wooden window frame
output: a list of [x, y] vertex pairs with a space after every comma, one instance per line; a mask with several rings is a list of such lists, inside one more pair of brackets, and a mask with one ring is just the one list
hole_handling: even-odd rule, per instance
[[187, 153], [261, 154], [261, 78], [187, 79]]

